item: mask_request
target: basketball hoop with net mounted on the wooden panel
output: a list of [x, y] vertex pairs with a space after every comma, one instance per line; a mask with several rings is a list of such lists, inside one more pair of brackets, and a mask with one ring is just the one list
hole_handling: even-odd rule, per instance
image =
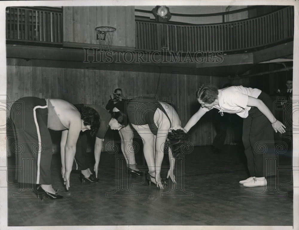
[[101, 51], [112, 51], [113, 34], [116, 29], [110, 26], [99, 26], [95, 28], [97, 32], [97, 40], [99, 40], [99, 48]]

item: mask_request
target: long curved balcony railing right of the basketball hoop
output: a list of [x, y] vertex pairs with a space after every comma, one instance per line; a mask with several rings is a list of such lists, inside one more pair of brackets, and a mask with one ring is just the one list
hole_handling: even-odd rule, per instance
[[292, 39], [294, 7], [235, 22], [208, 25], [171, 25], [136, 21], [136, 50], [238, 51]]

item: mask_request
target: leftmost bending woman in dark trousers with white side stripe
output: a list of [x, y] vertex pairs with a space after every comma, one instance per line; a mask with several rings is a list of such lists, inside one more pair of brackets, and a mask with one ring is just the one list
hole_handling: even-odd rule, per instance
[[[20, 98], [13, 104], [11, 118], [17, 134], [17, 144], [22, 152], [17, 152], [16, 165], [20, 183], [40, 185], [36, 191], [44, 193], [49, 199], [62, 196], [51, 185], [52, 141], [49, 129], [63, 130], [61, 138], [62, 177], [66, 189], [70, 187], [70, 173], [76, 152], [76, 142], [80, 131], [99, 127], [99, 115], [94, 109], [84, 107], [78, 111], [72, 104], [61, 99]], [[34, 164], [25, 165], [24, 161], [34, 159]]]

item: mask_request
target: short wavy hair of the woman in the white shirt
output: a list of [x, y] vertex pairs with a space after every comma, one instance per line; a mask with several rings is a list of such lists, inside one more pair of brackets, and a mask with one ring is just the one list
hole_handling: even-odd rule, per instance
[[211, 84], [202, 84], [196, 91], [196, 98], [204, 103], [211, 104], [218, 99], [218, 87]]

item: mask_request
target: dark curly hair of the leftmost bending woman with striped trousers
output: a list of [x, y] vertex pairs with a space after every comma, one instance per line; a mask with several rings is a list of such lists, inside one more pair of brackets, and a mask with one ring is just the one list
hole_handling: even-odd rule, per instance
[[81, 107], [78, 109], [84, 125], [90, 125], [90, 135], [94, 136], [100, 127], [100, 115], [91, 107]]

